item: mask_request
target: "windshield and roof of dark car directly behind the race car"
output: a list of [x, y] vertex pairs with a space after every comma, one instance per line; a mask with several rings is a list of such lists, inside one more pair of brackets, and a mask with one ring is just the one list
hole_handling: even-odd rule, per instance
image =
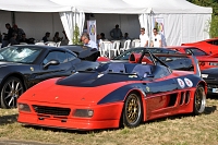
[[[145, 48], [131, 48], [120, 56], [114, 57], [112, 60], [129, 60], [129, 57], [131, 53], [142, 53]], [[152, 53], [180, 53], [175, 50], [169, 50], [166, 48], [146, 48], [149, 50]]]

